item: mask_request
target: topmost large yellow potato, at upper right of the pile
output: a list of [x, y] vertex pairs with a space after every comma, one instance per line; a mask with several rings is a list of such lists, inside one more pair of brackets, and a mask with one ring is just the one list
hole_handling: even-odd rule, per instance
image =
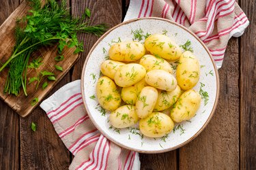
[[171, 61], [179, 59], [182, 55], [180, 47], [169, 37], [162, 34], [154, 34], [147, 37], [145, 39], [145, 48], [151, 54]]

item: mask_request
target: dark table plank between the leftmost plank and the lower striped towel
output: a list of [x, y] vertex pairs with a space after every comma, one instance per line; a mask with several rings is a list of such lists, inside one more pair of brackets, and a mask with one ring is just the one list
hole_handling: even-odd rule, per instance
[[[66, 75], [50, 95], [69, 81], [70, 76]], [[35, 122], [37, 131], [31, 131], [31, 122]], [[20, 118], [21, 169], [68, 169], [69, 165], [69, 151], [40, 107], [27, 118]]]

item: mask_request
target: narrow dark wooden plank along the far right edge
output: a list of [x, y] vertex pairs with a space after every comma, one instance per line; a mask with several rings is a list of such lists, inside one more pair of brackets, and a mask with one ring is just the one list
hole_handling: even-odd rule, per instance
[[256, 169], [256, 1], [240, 6], [251, 22], [240, 37], [240, 169]]

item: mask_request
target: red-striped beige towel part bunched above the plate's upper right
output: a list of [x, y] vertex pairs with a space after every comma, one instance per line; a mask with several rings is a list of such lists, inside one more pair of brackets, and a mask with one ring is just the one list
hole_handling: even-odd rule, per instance
[[218, 69], [229, 39], [240, 37], [249, 24], [235, 0], [131, 0], [124, 21], [150, 16], [190, 29], [209, 48]]

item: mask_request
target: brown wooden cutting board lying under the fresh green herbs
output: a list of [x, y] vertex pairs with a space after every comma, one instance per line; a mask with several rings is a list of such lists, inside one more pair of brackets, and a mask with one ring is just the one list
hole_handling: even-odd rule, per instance
[[[16, 26], [16, 19], [27, 14], [29, 10], [29, 5], [27, 1], [23, 1], [18, 8], [9, 16], [5, 22], [0, 27], [0, 62], [5, 63], [8, 58], [11, 56], [15, 39], [14, 39], [14, 28]], [[55, 73], [56, 81], [48, 81], [48, 86], [42, 90], [42, 84], [46, 81], [46, 78], [41, 81], [40, 86], [37, 90], [35, 90], [35, 84], [27, 84], [27, 94], [26, 97], [23, 93], [23, 89], [20, 89], [20, 94], [18, 97], [14, 95], [8, 95], [3, 92], [3, 88], [5, 86], [5, 80], [8, 75], [8, 68], [3, 69], [0, 72], [0, 97], [7, 103], [14, 111], [16, 111], [20, 116], [25, 117], [44, 99], [44, 97], [50, 92], [50, 90], [63, 78], [63, 76], [68, 72], [68, 70], [74, 65], [76, 60], [79, 58], [78, 54], [73, 54], [74, 49], [64, 48], [62, 55], [65, 57], [63, 61], [57, 63], [54, 60], [55, 56], [57, 56], [57, 47], [53, 46], [51, 48], [42, 48], [36, 54], [33, 54], [34, 57], [42, 57], [42, 64], [38, 68], [38, 73], [40, 71], [51, 71]], [[59, 65], [63, 67], [63, 71], [57, 71], [55, 69], [55, 65]], [[37, 75], [35, 70], [28, 69], [27, 78], [33, 78]], [[28, 82], [29, 80], [27, 80]], [[31, 101], [34, 98], [38, 98], [39, 101], [36, 105], [31, 105]], [[0, 108], [1, 110], [1, 108]]]

